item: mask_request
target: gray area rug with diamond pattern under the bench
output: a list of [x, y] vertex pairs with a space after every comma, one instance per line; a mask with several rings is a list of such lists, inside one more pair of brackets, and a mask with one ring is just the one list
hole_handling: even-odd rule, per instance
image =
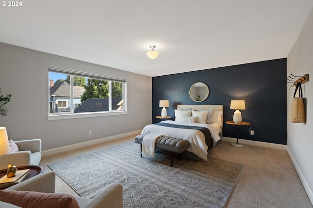
[[190, 161], [156, 152], [143, 155], [140, 145], [125, 143], [48, 165], [83, 197], [123, 185], [124, 208], [222, 208], [244, 165], [210, 158]]

